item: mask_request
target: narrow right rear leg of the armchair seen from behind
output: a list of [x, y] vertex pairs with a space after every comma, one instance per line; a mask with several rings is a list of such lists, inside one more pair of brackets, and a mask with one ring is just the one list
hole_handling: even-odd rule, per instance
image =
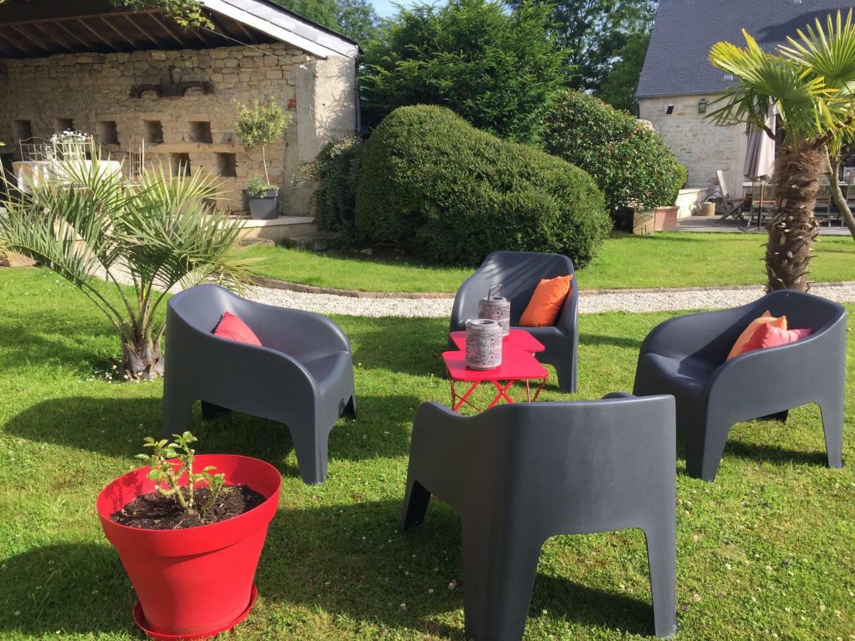
[[646, 528], [645, 537], [656, 636], [667, 638], [677, 632], [674, 521]]

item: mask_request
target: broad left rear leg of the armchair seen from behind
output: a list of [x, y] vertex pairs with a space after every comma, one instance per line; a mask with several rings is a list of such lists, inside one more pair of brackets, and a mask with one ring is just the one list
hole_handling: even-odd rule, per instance
[[[482, 512], [483, 513], [483, 512]], [[466, 635], [475, 641], [516, 641], [526, 627], [542, 541], [504, 538], [492, 523], [463, 518], [463, 606]]]

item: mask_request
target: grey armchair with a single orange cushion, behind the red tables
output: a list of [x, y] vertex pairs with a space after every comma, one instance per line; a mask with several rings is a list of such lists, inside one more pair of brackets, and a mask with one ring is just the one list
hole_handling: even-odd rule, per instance
[[[460, 285], [451, 310], [449, 332], [466, 328], [466, 321], [478, 318], [478, 301], [486, 296], [491, 285], [504, 285], [504, 295], [510, 300], [510, 325], [519, 326], [522, 312], [528, 307], [534, 288], [541, 279], [566, 276], [573, 271], [573, 262], [559, 254], [538, 254], [528, 251], [496, 251], [487, 256], [478, 271]], [[551, 364], [558, 374], [561, 391], [576, 391], [576, 354], [579, 351], [579, 330], [576, 325], [579, 291], [575, 279], [570, 281], [570, 293], [555, 326], [523, 327], [546, 348], [538, 359]], [[449, 341], [449, 349], [456, 349]]]

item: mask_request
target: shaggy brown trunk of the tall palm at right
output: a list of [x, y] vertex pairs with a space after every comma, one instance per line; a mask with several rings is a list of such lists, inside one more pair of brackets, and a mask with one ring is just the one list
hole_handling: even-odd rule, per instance
[[775, 162], [775, 215], [766, 224], [766, 291], [811, 289], [807, 275], [819, 233], [813, 208], [824, 167], [822, 152], [812, 149], [795, 150]]

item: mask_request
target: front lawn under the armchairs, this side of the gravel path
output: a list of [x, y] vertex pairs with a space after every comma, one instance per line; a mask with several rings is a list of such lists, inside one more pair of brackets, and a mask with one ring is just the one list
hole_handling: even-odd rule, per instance
[[[141, 638], [94, 502], [160, 432], [162, 384], [105, 379], [117, 352], [110, 326], [45, 270], [0, 271], [0, 307], [0, 638]], [[668, 316], [582, 317], [575, 397], [630, 388], [640, 341]], [[258, 456], [284, 475], [261, 596], [229, 638], [462, 639], [457, 513], [434, 501], [422, 525], [397, 532], [413, 415], [423, 401], [447, 402], [445, 321], [335, 320], [353, 344], [360, 416], [333, 430], [326, 484], [299, 480], [284, 426], [192, 415], [200, 452]], [[855, 343], [848, 350], [855, 363]], [[847, 379], [855, 385], [855, 367]], [[853, 404], [850, 395], [848, 434]], [[846, 438], [845, 467], [823, 466], [814, 406], [786, 426], [735, 426], [715, 483], [687, 477], [679, 454], [679, 638], [855, 634], [853, 455]], [[647, 580], [640, 532], [551, 538], [526, 637], [644, 638]]]

